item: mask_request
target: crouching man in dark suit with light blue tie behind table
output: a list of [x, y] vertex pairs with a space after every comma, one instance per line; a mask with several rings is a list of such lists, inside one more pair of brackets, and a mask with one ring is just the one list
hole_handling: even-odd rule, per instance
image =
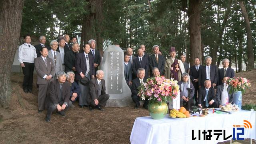
[[210, 80], [204, 81], [204, 86], [198, 91], [198, 106], [201, 108], [218, 108], [218, 102], [216, 102], [216, 96], [214, 94], [214, 88]]

